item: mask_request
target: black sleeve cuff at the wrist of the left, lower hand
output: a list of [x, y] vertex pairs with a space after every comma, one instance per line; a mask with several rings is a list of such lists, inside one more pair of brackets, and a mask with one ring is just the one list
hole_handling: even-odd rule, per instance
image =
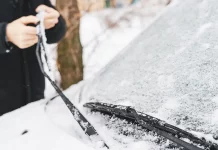
[[7, 45], [5, 41], [7, 23], [0, 23], [0, 54], [6, 53]]

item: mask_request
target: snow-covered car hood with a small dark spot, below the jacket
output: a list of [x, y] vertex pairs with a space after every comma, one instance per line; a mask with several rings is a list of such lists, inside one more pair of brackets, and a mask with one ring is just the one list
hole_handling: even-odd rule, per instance
[[[76, 134], [64, 132], [51, 121], [45, 111], [45, 102], [29, 104], [0, 118], [0, 149], [91, 150]], [[21, 135], [25, 130], [28, 133]]]

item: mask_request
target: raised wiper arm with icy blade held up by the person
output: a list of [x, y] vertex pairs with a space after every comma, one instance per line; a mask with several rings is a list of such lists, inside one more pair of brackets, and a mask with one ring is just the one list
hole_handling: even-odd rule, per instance
[[[103, 147], [106, 147], [109, 149], [107, 144], [102, 140], [102, 138], [99, 136], [95, 128], [92, 126], [92, 124], [83, 116], [83, 114], [79, 111], [79, 109], [63, 94], [61, 89], [56, 85], [56, 83], [49, 77], [49, 75], [44, 71], [43, 68], [43, 61], [42, 58], [44, 57], [44, 65], [49, 63], [47, 62], [47, 43], [46, 43], [46, 36], [45, 36], [45, 28], [44, 28], [44, 12], [40, 12], [37, 15], [40, 19], [39, 24], [37, 25], [37, 32], [38, 32], [38, 38], [39, 41], [37, 43], [36, 47], [36, 56], [39, 62], [40, 69], [43, 73], [43, 75], [50, 81], [51, 85], [54, 87], [54, 89], [57, 91], [59, 96], [62, 98], [64, 103], [66, 104], [67, 108], [70, 110], [72, 115], [74, 116], [74, 119], [78, 122], [80, 127], [83, 129], [85, 134], [87, 134], [92, 142], [100, 141], [102, 143]], [[43, 54], [43, 55], [42, 55]], [[46, 62], [45, 62], [46, 61]], [[48, 66], [49, 68], [49, 66]]]

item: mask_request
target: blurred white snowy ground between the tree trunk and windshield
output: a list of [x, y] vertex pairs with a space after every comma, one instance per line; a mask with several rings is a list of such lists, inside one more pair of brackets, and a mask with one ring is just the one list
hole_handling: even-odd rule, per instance
[[93, 77], [135, 39], [166, 7], [167, 0], [85, 14], [81, 19], [84, 78]]

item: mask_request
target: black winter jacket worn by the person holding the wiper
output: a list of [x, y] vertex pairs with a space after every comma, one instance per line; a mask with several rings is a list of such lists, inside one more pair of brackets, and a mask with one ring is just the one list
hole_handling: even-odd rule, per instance
[[[5, 40], [7, 24], [22, 16], [36, 15], [40, 4], [53, 7], [49, 0], [0, 1], [0, 116], [44, 98], [45, 79], [36, 59], [36, 45], [21, 50]], [[65, 31], [65, 21], [60, 17], [59, 23], [46, 31], [48, 43], [58, 42]]]

